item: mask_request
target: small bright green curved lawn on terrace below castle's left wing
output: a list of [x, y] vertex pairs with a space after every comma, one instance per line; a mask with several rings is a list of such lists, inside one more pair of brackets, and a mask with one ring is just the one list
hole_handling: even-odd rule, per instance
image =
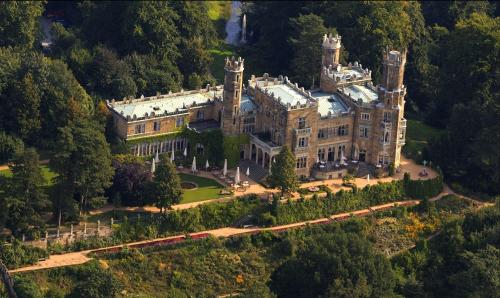
[[198, 185], [196, 189], [185, 189], [182, 195], [181, 204], [199, 202], [222, 197], [219, 192], [224, 187], [213, 179], [198, 177], [194, 175], [180, 173], [182, 181], [194, 182]]

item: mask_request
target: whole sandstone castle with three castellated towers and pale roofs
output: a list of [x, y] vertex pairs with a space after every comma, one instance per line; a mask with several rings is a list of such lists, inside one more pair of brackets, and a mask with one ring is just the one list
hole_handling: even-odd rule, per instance
[[252, 75], [244, 86], [245, 62], [233, 57], [225, 60], [224, 85], [112, 100], [107, 106], [118, 135], [136, 155], [183, 150], [185, 139], [161, 136], [187, 126], [248, 134], [241, 158], [268, 170], [282, 146], [295, 155], [299, 176], [336, 178], [345, 173], [346, 160], [398, 167], [406, 132], [406, 52], [384, 53], [382, 80], [375, 86], [371, 71], [360, 63], [340, 63], [340, 36], [325, 35], [322, 50], [317, 89], [305, 90], [286, 76], [268, 74]]

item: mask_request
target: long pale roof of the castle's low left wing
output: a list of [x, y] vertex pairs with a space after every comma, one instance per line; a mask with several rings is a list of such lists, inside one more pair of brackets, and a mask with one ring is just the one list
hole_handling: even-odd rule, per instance
[[213, 100], [214, 92], [198, 92], [190, 94], [179, 94], [174, 96], [156, 96], [132, 100], [131, 102], [116, 102], [112, 104], [113, 110], [123, 115], [133, 118], [144, 117], [148, 115], [161, 115], [164, 113], [174, 113], [176, 111], [186, 110], [193, 103], [196, 105], [206, 104]]

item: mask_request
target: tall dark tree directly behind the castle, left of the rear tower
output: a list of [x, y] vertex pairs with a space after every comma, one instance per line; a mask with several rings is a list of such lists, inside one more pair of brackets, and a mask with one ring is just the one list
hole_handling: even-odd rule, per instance
[[290, 19], [290, 23], [293, 32], [289, 42], [293, 49], [294, 79], [307, 87], [312, 86], [313, 82], [319, 84], [321, 40], [328, 29], [323, 19], [315, 14], [300, 15]]

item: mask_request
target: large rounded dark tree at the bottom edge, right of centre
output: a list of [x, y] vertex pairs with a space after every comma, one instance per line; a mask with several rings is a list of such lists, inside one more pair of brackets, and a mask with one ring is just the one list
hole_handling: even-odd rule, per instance
[[394, 286], [389, 261], [365, 237], [341, 229], [305, 241], [270, 282], [278, 297], [388, 297]]

